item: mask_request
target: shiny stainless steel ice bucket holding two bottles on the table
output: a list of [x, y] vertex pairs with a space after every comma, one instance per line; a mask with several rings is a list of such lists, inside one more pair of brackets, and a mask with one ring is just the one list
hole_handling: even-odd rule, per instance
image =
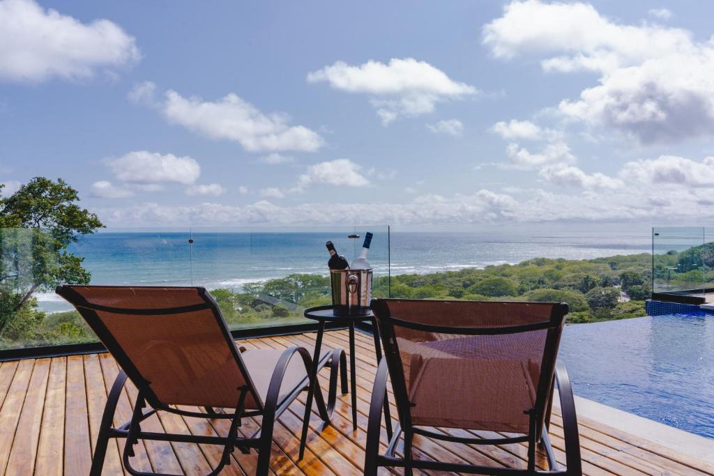
[[372, 269], [330, 270], [336, 315], [367, 315], [372, 297]]

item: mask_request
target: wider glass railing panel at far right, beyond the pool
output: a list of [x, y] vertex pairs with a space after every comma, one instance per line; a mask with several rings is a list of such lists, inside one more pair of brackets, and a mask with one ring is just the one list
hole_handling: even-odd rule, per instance
[[654, 293], [703, 293], [707, 253], [702, 227], [653, 228], [652, 243]]

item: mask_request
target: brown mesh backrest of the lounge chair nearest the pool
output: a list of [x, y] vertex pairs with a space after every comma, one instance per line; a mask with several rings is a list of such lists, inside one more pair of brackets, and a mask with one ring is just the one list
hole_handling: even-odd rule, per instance
[[376, 299], [400, 422], [540, 434], [565, 303]]

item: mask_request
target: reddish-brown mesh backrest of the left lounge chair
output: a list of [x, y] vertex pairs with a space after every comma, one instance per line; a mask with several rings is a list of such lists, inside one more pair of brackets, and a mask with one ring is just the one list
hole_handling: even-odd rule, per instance
[[204, 288], [64, 285], [56, 293], [74, 305], [154, 407], [235, 408], [242, 388], [246, 408], [263, 408]]

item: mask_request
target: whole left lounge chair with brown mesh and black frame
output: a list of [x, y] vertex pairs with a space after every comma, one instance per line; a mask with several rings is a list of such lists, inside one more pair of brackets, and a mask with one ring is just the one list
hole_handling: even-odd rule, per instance
[[[75, 306], [121, 367], [104, 409], [91, 475], [101, 474], [110, 437], [126, 438], [124, 465], [131, 474], [136, 473], [129, 458], [138, 440], [167, 437], [223, 445], [223, 458], [211, 475], [230, 462], [234, 447], [258, 450], [257, 472], [268, 474], [273, 423], [308, 388], [312, 358], [305, 348], [241, 353], [216, 301], [204, 288], [64, 285], [56, 292]], [[299, 358], [293, 358], [296, 355]], [[346, 359], [340, 349], [323, 353], [318, 364], [330, 365], [333, 374], [329, 410], [316, 388], [316, 404], [326, 422], [334, 406], [339, 364], [344, 373]], [[111, 427], [126, 378], [139, 390], [134, 414], [130, 422]], [[146, 403], [151, 410], [145, 412]], [[205, 412], [178, 410], [176, 405], [203, 407]], [[158, 410], [226, 418], [231, 420], [231, 430], [225, 437], [142, 431], [141, 421]], [[241, 418], [258, 415], [263, 417], [261, 429], [252, 437], [238, 437]]]

